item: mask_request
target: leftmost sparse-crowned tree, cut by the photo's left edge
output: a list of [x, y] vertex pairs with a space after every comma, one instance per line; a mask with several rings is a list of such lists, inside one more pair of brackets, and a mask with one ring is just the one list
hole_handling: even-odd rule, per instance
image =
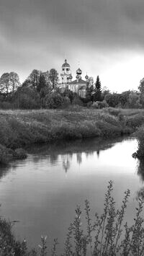
[[0, 78], [0, 92], [1, 94], [9, 94], [10, 91], [9, 73], [4, 73]]

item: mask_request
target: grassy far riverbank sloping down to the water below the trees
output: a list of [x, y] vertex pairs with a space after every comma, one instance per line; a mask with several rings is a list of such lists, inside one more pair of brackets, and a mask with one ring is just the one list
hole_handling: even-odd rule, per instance
[[143, 110], [0, 110], [0, 144], [14, 150], [58, 139], [112, 138], [143, 123]]

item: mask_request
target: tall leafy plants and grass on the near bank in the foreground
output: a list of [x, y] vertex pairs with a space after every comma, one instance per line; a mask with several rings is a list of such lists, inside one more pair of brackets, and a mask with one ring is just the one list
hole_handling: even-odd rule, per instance
[[[116, 208], [113, 193], [113, 182], [109, 181], [104, 199], [104, 211], [101, 216], [91, 216], [91, 206], [85, 201], [83, 224], [81, 223], [81, 207], [76, 207], [76, 216], [68, 228], [63, 256], [143, 256], [144, 251], [144, 219], [142, 199], [138, 199], [135, 218], [132, 226], [125, 223], [127, 202], [130, 190], [125, 191], [122, 205]], [[50, 252], [48, 252], [48, 250]], [[12, 224], [0, 219], [0, 253], [1, 255], [58, 255], [58, 239], [54, 239], [51, 250], [47, 245], [47, 237], [41, 237], [39, 250], [27, 249], [27, 242], [19, 242], [12, 234]], [[60, 254], [59, 254], [60, 255]]]

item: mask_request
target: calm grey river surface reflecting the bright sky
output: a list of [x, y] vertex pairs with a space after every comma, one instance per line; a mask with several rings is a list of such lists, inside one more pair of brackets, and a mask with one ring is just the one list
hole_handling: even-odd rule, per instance
[[58, 237], [62, 250], [76, 205], [84, 209], [88, 199], [92, 213], [102, 213], [104, 193], [113, 180], [117, 206], [130, 188], [126, 220], [131, 221], [135, 198], [143, 187], [143, 163], [140, 166], [132, 158], [136, 149], [135, 138], [32, 146], [27, 159], [0, 167], [1, 216], [17, 221], [15, 234], [26, 237], [30, 246], [48, 234], [50, 243]]

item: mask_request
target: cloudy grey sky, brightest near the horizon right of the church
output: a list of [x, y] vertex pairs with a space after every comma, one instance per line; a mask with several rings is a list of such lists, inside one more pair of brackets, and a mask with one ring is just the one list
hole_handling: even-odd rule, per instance
[[0, 0], [0, 76], [24, 81], [33, 69], [67, 59], [73, 79], [96, 76], [112, 92], [138, 89], [144, 77], [143, 0]]

